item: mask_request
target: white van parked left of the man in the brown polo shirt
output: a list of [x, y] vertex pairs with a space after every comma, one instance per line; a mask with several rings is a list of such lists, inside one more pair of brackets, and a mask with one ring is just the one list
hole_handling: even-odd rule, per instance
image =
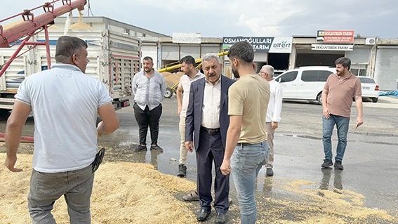
[[322, 104], [322, 90], [335, 67], [305, 66], [288, 70], [275, 78], [283, 88], [284, 100], [318, 100]]

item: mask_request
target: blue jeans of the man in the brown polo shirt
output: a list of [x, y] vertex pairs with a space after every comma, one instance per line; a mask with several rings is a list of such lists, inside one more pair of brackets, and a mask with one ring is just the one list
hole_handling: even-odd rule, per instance
[[341, 117], [331, 114], [330, 119], [324, 119], [324, 134], [322, 137], [322, 141], [324, 143], [324, 152], [325, 159], [331, 160], [333, 157], [333, 153], [331, 150], [331, 136], [333, 133], [334, 125], [337, 126], [337, 136], [338, 136], [338, 144], [336, 150], [336, 161], [343, 161], [345, 147], [347, 147], [347, 133], [348, 133], [348, 124], [350, 123], [350, 117]]

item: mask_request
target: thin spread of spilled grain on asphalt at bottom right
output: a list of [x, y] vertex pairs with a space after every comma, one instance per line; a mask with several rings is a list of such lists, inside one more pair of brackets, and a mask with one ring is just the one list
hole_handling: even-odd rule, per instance
[[[319, 189], [319, 183], [307, 180], [264, 178], [266, 190], [277, 189], [293, 198], [265, 198], [258, 202], [259, 223], [397, 223], [397, 216], [388, 211], [364, 206], [364, 195], [351, 190], [329, 187]], [[288, 215], [287, 215], [288, 214]], [[286, 216], [287, 215], [287, 216]], [[296, 221], [291, 221], [292, 220]], [[270, 222], [277, 220], [277, 222]]]

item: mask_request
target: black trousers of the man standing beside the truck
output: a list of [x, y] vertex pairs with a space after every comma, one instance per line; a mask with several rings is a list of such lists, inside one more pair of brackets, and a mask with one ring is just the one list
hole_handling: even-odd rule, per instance
[[150, 110], [148, 106], [142, 110], [137, 103], [134, 103], [135, 120], [140, 128], [140, 144], [147, 145], [148, 125], [151, 131], [151, 145], [157, 145], [157, 137], [159, 135], [159, 119], [161, 116], [161, 104]]

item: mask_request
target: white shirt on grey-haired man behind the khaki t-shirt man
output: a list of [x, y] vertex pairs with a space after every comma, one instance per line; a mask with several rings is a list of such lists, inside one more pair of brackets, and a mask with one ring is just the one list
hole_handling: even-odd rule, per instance
[[268, 83], [270, 84], [270, 103], [268, 103], [266, 122], [279, 122], [282, 111], [282, 86], [275, 79]]

